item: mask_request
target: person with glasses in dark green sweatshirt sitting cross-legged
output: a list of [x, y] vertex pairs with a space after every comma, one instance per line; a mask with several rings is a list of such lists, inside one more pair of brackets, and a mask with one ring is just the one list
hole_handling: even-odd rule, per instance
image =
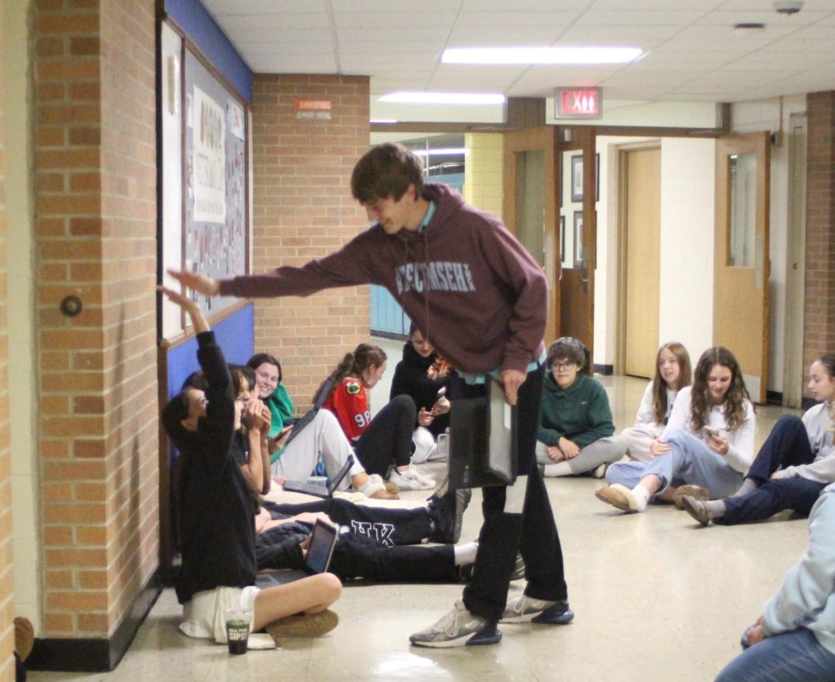
[[590, 375], [589, 351], [576, 338], [558, 338], [545, 360], [537, 461], [545, 476], [605, 475], [626, 441], [615, 435], [609, 398]]

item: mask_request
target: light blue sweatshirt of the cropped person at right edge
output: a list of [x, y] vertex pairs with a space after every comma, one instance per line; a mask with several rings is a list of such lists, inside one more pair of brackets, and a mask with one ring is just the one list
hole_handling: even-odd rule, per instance
[[809, 514], [809, 544], [762, 609], [762, 631], [812, 631], [835, 654], [835, 483], [825, 487]]

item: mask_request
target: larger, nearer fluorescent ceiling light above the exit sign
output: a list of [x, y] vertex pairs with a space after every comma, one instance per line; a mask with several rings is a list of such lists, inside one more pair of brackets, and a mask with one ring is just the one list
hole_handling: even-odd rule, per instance
[[640, 48], [448, 48], [447, 64], [628, 64]]

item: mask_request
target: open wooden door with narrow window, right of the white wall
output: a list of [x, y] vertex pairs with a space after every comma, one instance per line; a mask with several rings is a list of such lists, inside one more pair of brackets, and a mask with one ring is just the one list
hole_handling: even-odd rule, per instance
[[771, 138], [716, 140], [713, 343], [731, 350], [751, 399], [768, 388], [768, 252]]

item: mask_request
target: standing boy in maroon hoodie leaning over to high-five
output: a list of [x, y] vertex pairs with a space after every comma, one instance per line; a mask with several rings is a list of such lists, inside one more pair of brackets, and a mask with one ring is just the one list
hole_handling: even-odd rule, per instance
[[[376, 222], [330, 256], [229, 280], [171, 275], [209, 296], [303, 296], [380, 284], [467, 381], [457, 397], [483, 394], [484, 375], [497, 377], [509, 404], [518, 405], [520, 476], [513, 486], [483, 489], [473, 581], [449, 613], [410, 640], [430, 647], [496, 644], [498, 621], [569, 623], [574, 613], [562, 550], [534, 456], [547, 318], [542, 269], [497, 217], [446, 186], [424, 185], [420, 160], [402, 145], [378, 145], [363, 155], [351, 189]], [[508, 602], [518, 551], [528, 583]]]

